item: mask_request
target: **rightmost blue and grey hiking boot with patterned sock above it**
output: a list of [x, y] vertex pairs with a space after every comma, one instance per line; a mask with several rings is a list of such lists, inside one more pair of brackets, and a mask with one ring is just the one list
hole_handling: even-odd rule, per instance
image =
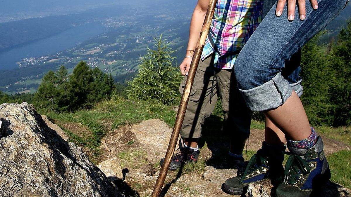
[[[290, 156], [286, 161], [285, 178], [279, 184], [277, 197], [307, 197], [319, 192], [321, 186], [330, 179], [330, 169], [323, 152], [323, 141], [319, 136], [310, 149], [288, 146]], [[317, 190], [316, 190], [317, 189]]]

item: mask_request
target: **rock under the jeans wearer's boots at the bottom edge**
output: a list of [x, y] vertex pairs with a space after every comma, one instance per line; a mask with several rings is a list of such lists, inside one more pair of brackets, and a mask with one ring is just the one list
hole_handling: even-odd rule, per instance
[[[249, 197], [271, 197], [273, 186], [269, 180], [249, 184], [247, 187], [247, 194]], [[351, 191], [339, 184], [328, 182], [318, 192], [312, 196], [339, 196], [351, 197]]]

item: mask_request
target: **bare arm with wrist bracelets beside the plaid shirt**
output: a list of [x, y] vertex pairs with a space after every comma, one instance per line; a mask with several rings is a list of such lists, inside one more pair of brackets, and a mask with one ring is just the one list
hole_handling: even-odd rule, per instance
[[[205, 20], [208, 4], [210, 4], [210, 0], [198, 0], [197, 5], [194, 9], [190, 23], [190, 34], [186, 56], [194, 55], [194, 52], [191, 52], [189, 50], [195, 50], [201, 28]], [[191, 60], [192, 58], [185, 57], [183, 62], [180, 64], [180, 72], [182, 75], [188, 74]]]

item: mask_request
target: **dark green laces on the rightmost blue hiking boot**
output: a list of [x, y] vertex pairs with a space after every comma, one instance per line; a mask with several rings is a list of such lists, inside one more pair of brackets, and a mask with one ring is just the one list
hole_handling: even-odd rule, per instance
[[302, 157], [292, 154], [291, 152], [285, 152], [290, 155], [286, 161], [285, 166], [285, 181], [290, 184], [294, 184], [298, 181], [301, 174], [306, 175], [311, 172], [310, 165]]

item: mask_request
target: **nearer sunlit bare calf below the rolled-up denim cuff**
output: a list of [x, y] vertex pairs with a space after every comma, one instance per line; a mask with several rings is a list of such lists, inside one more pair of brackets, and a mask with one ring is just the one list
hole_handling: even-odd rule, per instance
[[266, 111], [265, 115], [283, 131], [289, 140], [304, 140], [311, 134], [305, 109], [295, 91], [282, 106]]

